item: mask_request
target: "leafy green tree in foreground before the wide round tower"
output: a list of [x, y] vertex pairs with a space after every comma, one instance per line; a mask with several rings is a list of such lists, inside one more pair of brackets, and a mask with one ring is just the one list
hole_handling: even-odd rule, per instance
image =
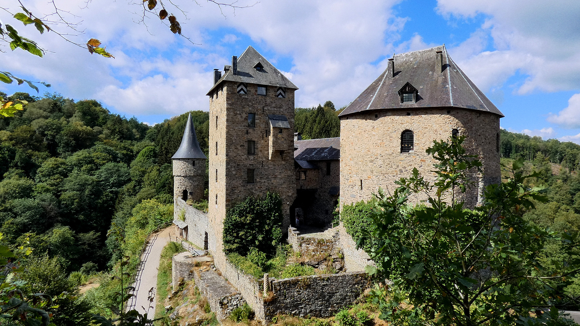
[[[434, 142], [427, 150], [438, 161], [437, 181], [426, 182], [414, 169], [392, 195], [375, 195], [369, 230], [358, 245], [377, 268], [367, 267], [387, 285], [372, 290], [380, 318], [394, 325], [570, 325], [556, 305], [575, 304], [563, 288], [580, 269], [577, 235], [555, 233], [523, 219], [539, 189], [524, 186], [523, 159], [510, 176], [485, 189], [485, 202], [466, 209], [470, 174], [481, 166], [465, 155], [462, 139]], [[412, 206], [412, 193], [429, 195]], [[451, 199], [452, 202], [446, 200]], [[548, 243], [564, 258], [547, 261]]]

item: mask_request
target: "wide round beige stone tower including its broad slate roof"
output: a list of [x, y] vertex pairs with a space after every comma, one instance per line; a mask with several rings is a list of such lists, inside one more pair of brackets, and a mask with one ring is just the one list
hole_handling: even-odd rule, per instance
[[[445, 46], [403, 53], [340, 117], [340, 204], [369, 200], [379, 187], [413, 168], [433, 182], [433, 140], [466, 136], [464, 146], [483, 162], [473, 173], [467, 206], [480, 203], [488, 184], [501, 181], [499, 119], [503, 114], [449, 57]], [[415, 201], [425, 197], [414, 198]]]

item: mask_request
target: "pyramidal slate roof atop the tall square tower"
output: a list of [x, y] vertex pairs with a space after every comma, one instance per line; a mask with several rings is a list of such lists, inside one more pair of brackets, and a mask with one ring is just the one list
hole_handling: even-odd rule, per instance
[[[257, 63], [261, 63], [263, 69], [261, 71], [256, 70], [254, 66]], [[251, 84], [259, 85], [270, 85], [270, 86], [282, 86], [285, 88], [298, 89], [296, 85], [286, 78], [276, 67], [274, 67], [266, 58], [264, 58], [258, 51], [256, 51], [252, 46], [242, 53], [238, 57], [238, 73], [234, 75], [231, 66], [226, 66], [229, 69], [224, 73], [222, 78], [216, 82], [215, 85], [209, 90], [207, 95], [212, 92], [213, 88], [218, 86], [222, 81], [233, 81], [233, 82], [246, 82]], [[224, 67], [224, 68], [226, 68]]]

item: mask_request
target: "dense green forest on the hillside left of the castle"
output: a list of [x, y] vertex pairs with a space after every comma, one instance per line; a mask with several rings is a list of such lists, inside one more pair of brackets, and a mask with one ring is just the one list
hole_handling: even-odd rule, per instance
[[[0, 94], [6, 97], [5, 94]], [[56, 325], [86, 325], [119, 303], [119, 262], [135, 269], [148, 231], [173, 219], [171, 156], [187, 114], [148, 126], [96, 100], [56, 93], [8, 97], [28, 104], [0, 119], [1, 245], [20, 256], [31, 293], [56, 299]], [[192, 112], [207, 153], [208, 113]], [[82, 280], [102, 286], [79, 295]]]

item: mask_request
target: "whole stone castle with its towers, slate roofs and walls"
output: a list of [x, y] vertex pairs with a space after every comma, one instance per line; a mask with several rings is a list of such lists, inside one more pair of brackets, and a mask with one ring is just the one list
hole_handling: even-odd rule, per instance
[[[433, 181], [433, 159], [426, 148], [433, 140], [458, 135], [466, 136], [465, 147], [483, 162], [483, 173], [473, 173], [477, 186], [465, 194], [466, 204], [480, 203], [484, 187], [500, 181], [499, 118], [503, 114], [444, 46], [389, 59], [387, 69], [339, 114], [339, 138], [300, 140], [295, 135], [294, 92], [298, 88], [251, 46], [239, 58], [232, 57], [223, 75], [214, 70], [213, 77], [207, 94], [208, 213], [184, 202], [204, 194], [206, 158], [189, 117], [182, 144], [173, 156], [176, 224], [185, 238], [209, 250], [215, 267], [261, 318], [267, 318], [269, 308], [258, 295], [258, 285], [240, 278], [240, 271], [235, 271], [223, 251], [223, 222], [231, 205], [249, 195], [264, 197], [273, 191], [281, 197], [284, 229], [294, 224], [296, 215], [306, 224], [324, 226], [331, 223], [339, 201], [348, 205], [369, 200], [379, 187], [393, 190], [394, 181], [408, 176], [413, 168]], [[182, 211], [185, 218], [180, 222], [177, 215]], [[289, 229], [290, 237], [296, 233]], [[360, 272], [372, 263], [355, 248], [342, 226], [336, 234], [347, 272]], [[264, 291], [267, 282], [265, 277], [260, 283]]]

